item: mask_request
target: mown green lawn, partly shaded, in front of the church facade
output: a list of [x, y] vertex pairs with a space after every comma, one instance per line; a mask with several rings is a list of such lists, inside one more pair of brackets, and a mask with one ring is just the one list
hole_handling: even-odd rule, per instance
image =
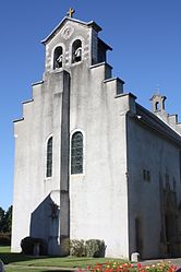
[[0, 247], [0, 259], [8, 264], [5, 272], [52, 272], [62, 271], [58, 268], [69, 270], [75, 268], [86, 268], [98, 263], [106, 263], [107, 261], [123, 262], [121, 259], [110, 258], [75, 258], [75, 257], [34, 257], [24, 256], [22, 253], [11, 253], [10, 247]]

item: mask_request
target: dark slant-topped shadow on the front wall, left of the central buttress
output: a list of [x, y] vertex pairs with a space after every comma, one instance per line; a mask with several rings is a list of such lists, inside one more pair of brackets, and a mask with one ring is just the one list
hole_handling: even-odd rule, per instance
[[[58, 200], [59, 191], [55, 191], [55, 196]], [[48, 255], [60, 255], [60, 206], [58, 203], [50, 193], [31, 215], [29, 235], [46, 241]]]

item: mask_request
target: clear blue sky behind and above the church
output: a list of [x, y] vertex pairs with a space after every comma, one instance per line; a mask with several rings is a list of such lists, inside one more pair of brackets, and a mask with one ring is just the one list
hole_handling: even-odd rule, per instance
[[40, 44], [70, 7], [75, 19], [95, 21], [100, 37], [113, 51], [108, 62], [124, 91], [150, 108], [159, 84], [167, 111], [181, 116], [181, 1], [180, 0], [1, 0], [0, 2], [0, 206], [12, 204], [14, 119], [23, 100], [32, 98], [32, 83], [41, 80]]

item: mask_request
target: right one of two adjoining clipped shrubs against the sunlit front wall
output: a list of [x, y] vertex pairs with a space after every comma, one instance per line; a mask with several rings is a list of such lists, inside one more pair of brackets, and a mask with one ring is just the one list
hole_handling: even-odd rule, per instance
[[98, 239], [86, 240], [85, 243], [87, 257], [105, 257], [105, 241]]

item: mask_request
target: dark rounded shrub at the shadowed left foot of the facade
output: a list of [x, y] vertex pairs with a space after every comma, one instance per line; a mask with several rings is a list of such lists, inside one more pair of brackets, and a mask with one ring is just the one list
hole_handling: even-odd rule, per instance
[[34, 255], [34, 247], [36, 244], [39, 244], [39, 255], [46, 255], [47, 247], [45, 240], [41, 238], [33, 238], [31, 236], [21, 240], [22, 252], [25, 255]]

